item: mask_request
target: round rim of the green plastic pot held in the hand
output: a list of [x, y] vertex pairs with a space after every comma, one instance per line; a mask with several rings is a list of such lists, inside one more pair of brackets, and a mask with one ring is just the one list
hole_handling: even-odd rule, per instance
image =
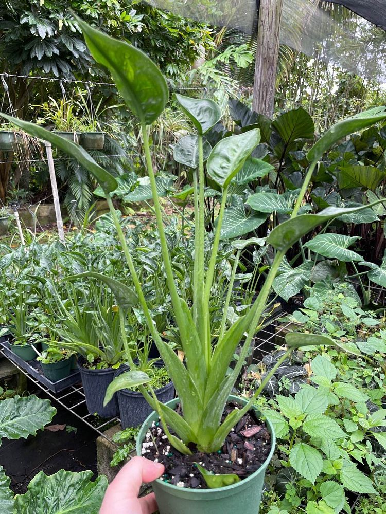
[[[236, 400], [236, 401], [240, 401], [242, 404], [245, 405], [245, 403], [248, 402], [248, 400], [245, 400], [239, 396], [235, 396], [233, 394], [229, 395], [228, 396], [228, 399], [229, 400]], [[171, 407], [172, 403], [177, 403], [178, 401], [180, 401], [179, 398], [174, 398], [173, 400], [170, 400], [168, 401], [167, 403], [165, 403], [165, 405], [168, 405], [169, 407]], [[255, 413], [259, 416], [261, 416], [261, 413], [260, 411], [257, 409], [257, 407], [255, 406], [252, 406], [251, 409], [253, 409], [255, 411]], [[146, 428], [148, 429], [148, 425], [150, 423], [150, 420], [151, 418], [154, 416], [154, 414], [156, 414], [155, 411], [153, 411], [144, 421], [144, 423], [142, 424], [141, 426], [141, 429], [139, 430], [139, 433], [142, 432], [142, 430], [144, 429], [144, 427], [146, 426]], [[184, 494], [184, 492], [186, 492], [187, 494], [189, 493], [190, 494], [194, 494], [196, 495], [196, 498], [199, 499], [199, 497], [201, 496], [200, 499], [204, 499], [204, 497], [208, 494], [213, 494], [213, 493], [219, 493], [219, 492], [222, 492], [224, 493], [225, 491], [231, 491], [233, 489], [237, 489], [238, 487], [242, 486], [243, 484], [247, 484], [249, 481], [253, 480], [256, 475], [258, 473], [260, 473], [261, 471], [264, 471], [266, 470], [266, 468], [268, 467], [268, 464], [270, 463], [272, 457], [273, 457], [273, 454], [275, 452], [275, 449], [276, 449], [276, 435], [275, 435], [275, 430], [274, 430], [274, 427], [271, 423], [271, 421], [269, 420], [269, 418], [266, 417], [266, 424], [267, 424], [267, 428], [270, 432], [270, 435], [271, 435], [271, 451], [269, 452], [269, 455], [268, 457], [266, 458], [266, 460], [264, 461], [264, 463], [261, 464], [261, 466], [259, 467], [259, 469], [257, 469], [256, 471], [254, 471], [251, 475], [249, 475], [246, 479], [242, 479], [240, 482], [237, 482], [236, 484], [231, 484], [231, 485], [227, 485], [225, 487], [216, 487], [214, 489], [190, 489], [190, 488], [182, 488], [182, 487], [177, 487], [176, 485], [173, 485], [173, 484], [169, 484], [167, 482], [164, 482], [163, 480], [160, 480], [160, 479], [156, 479], [154, 482], [157, 482], [157, 484], [160, 484], [160, 486], [162, 487], [165, 487], [166, 489], [169, 489], [170, 493], [173, 494], [172, 491], [175, 491], [176, 493], [178, 492], [178, 494], [175, 494], [177, 496], [181, 496], [182, 494]], [[142, 456], [141, 454], [141, 450], [142, 450], [142, 443], [143, 443], [143, 438], [142, 439], [137, 439], [137, 444], [136, 444], [136, 451], [137, 451], [137, 455], [139, 456]], [[146, 457], [144, 457], [146, 458]], [[229, 495], [229, 494], [228, 494]]]

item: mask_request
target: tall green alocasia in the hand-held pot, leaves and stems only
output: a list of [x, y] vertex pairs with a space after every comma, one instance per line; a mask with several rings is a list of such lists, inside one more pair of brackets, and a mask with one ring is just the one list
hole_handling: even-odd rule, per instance
[[[137, 116], [141, 124], [146, 164], [153, 195], [154, 212], [159, 231], [162, 248], [162, 258], [167, 277], [168, 289], [171, 297], [174, 319], [179, 329], [181, 346], [185, 354], [185, 363], [181, 362], [172, 348], [161, 338], [157, 331], [146, 303], [141, 282], [138, 278], [131, 252], [125, 241], [124, 233], [119, 225], [117, 214], [112, 204], [110, 193], [118, 184], [117, 181], [103, 168], [101, 168], [85, 150], [75, 143], [62, 139], [56, 134], [46, 131], [44, 128], [5, 116], [7, 119], [20, 126], [29, 134], [50, 141], [54, 146], [77, 158], [100, 183], [106, 195], [111, 214], [114, 219], [119, 241], [124, 251], [129, 272], [135, 287], [135, 293], [124, 284], [114, 279], [104, 277], [102, 274], [92, 273], [90, 278], [101, 280], [108, 284], [114, 292], [117, 303], [120, 306], [119, 315], [124, 333], [124, 311], [130, 306], [139, 303], [152, 338], [154, 339], [161, 357], [168, 369], [179, 396], [182, 415], [173, 411], [168, 406], [156, 400], [151, 388], [143, 385], [150, 379], [146, 374], [136, 370], [128, 351], [127, 359], [131, 371], [120, 375], [118, 381], [113, 382], [107, 393], [106, 401], [118, 389], [138, 386], [150, 405], [157, 410], [162, 421], [165, 433], [170, 443], [182, 453], [189, 454], [188, 445], [196, 444], [199, 451], [217, 451], [223, 443], [226, 435], [238, 423], [241, 417], [251, 408], [255, 398], [264, 388], [276, 366], [290, 355], [293, 350], [304, 344], [334, 344], [327, 336], [291, 334], [287, 338], [288, 350], [285, 352], [276, 366], [268, 374], [261, 386], [257, 389], [251, 400], [244, 408], [234, 410], [227, 416], [223, 423], [221, 417], [227, 399], [234, 387], [234, 383], [241, 371], [245, 356], [247, 355], [252, 338], [258, 331], [261, 314], [263, 313], [269, 297], [276, 273], [282, 263], [287, 250], [302, 236], [315, 227], [322, 225], [342, 214], [360, 211], [363, 207], [353, 209], [328, 208], [319, 214], [297, 215], [307, 190], [312, 170], [317, 164], [320, 152], [335, 141], [334, 131], [329, 131], [326, 139], [318, 141], [315, 149], [311, 149], [311, 164], [302, 189], [297, 196], [291, 218], [277, 226], [269, 234], [266, 244], [271, 245], [275, 251], [275, 258], [264, 285], [262, 285], [256, 301], [248, 313], [239, 319], [227, 330], [222, 324], [221, 332], [214, 333], [210, 325], [209, 300], [212, 295], [212, 286], [215, 280], [217, 256], [220, 242], [220, 232], [227, 202], [227, 192], [232, 179], [241, 170], [245, 161], [260, 141], [260, 132], [252, 128], [247, 132], [221, 140], [214, 146], [210, 153], [206, 171], [222, 190], [221, 206], [217, 217], [215, 236], [209, 259], [206, 259], [205, 227], [204, 227], [204, 143], [203, 135], [210, 127], [220, 119], [219, 107], [210, 100], [192, 100], [187, 97], [176, 96], [181, 108], [191, 119], [197, 130], [198, 142], [198, 172], [194, 172], [194, 206], [195, 206], [195, 263], [194, 263], [194, 302], [191, 308], [178, 294], [174, 282], [173, 270], [170, 262], [166, 235], [162, 219], [162, 210], [157, 195], [155, 175], [150, 152], [148, 125], [150, 125], [165, 108], [168, 100], [167, 84], [160, 70], [146, 56], [145, 53], [129, 44], [117, 41], [106, 34], [88, 26], [79, 20], [85, 40], [95, 60], [106, 66], [117, 85], [128, 107]], [[345, 120], [339, 125], [336, 137], [341, 138], [345, 134], [369, 126], [386, 118], [386, 111], [379, 108], [376, 112], [362, 113], [359, 117]], [[377, 203], [377, 201], [375, 202]], [[226, 316], [226, 313], [223, 314]], [[241, 343], [240, 357], [234, 369], [228, 375], [229, 364], [237, 346]], [[149, 394], [150, 392], [150, 394]], [[176, 432], [171, 435], [168, 428]]]

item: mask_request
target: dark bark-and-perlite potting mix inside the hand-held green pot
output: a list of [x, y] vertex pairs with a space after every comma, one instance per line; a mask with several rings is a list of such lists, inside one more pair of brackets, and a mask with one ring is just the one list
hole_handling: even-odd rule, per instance
[[[239, 403], [227, 403], [222, 421], [234, 409], [241, 409]], [[176, 411], [181, 412], [180, 405]], [[233, 473], [245, 479], [266, 461], [271, 451], [271, 435], [264, 421], [257, 420], [254, 411], [250, 411], [227, 435], [221, 450], [216, 453], [202, 453], [191, 447], [190, 450], [192, 455], [184, 455], [173, 448], [160, 421], [153, 421], [142, 443], [142, 455], [165, 466], [161, 480], [177, 487], [208, 489], [197, 464], [213, 474]]]

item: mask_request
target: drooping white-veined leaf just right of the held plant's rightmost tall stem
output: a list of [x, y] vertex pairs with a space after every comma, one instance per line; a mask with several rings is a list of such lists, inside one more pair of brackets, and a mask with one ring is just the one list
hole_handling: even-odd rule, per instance
[[285, 257], [273, 281], [273, 289], [277, 295], [284, 298], [286, 302], [297, 295], [309, 281], [312, 266], [312, 261], [305, 261], [300, 266], [292, 268]]

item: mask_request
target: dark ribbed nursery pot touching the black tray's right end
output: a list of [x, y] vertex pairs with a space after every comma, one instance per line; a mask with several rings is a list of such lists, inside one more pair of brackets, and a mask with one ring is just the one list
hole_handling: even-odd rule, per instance
[[78, 358], [78, 369], [82, 377], [84, 395], [86, 397], [87, 410], [90, 414], [97, 413], [100, 417], [115, 417], [119, 415], [117, 395], [103, 407], [103, 399], [109, 384], [113, 381], [116, 370], [88, 370], [83, 368], [84, 357]]

